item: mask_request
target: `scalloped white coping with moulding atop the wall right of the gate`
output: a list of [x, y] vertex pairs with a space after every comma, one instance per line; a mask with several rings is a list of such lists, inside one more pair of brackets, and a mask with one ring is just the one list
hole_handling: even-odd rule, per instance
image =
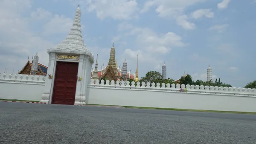
[[[101, 80], [101, 84], [99, 84], [99, 80], [94, 81], [93, 79], [91, 80], [90, 85], [88, 87], [90, 88], [104, 88], [104, 89], [127, 89], [127, 90], [150, 90], [154, 92], [180, 92], [180, 89], [185, 89], [187, 92], [182, 92], [182, 93], [193, 93], [193, 94], [209, 94], [209, 95], [231, 95], [231, 96], [249, 96], [249, 97], [256, 97], [256, 89], [247, 89], [247, 88], [241, 88], [241, 87], [218, 87], [218, 86], [199, 86], [199, 85], [180, 85], [180, 84], [162, 84], [162, 87], [160, 87], [160, 84], [157, 83], [157, 86], [154, 86], [155, 83], [151, 83], [153, 86], [149, 86], [150, 83], [148, 82], [146, 86], [143, 86], [145, 84], [142, 82], [142, 86], [137, 85], [135, 86], [135, 82], [133, 81], [131, 83], [131, 86], [129, 85], [129, 81], [127, 81], [127, 85], [125, 86], [125, 82], [117, 81], [116, 85], [112, 83], [109, 84], [109, 81], [107, 80], [106, 83], [104, 84], [104, 80]], [[137, 82], [137, 84], [140, 82]]]

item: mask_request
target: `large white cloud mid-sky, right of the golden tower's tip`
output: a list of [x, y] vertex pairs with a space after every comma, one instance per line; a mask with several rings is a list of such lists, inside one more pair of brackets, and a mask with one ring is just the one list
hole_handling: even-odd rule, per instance
[[150, 64], [155, 68], [158, 68], [159, 63], [163, 63], [161, 58], [171, 49], [186, 46], [186, 43], [182, 42], [182, 38], [173, 32], [157, 34], [152, 29], [140, 28], [128, 23], [120, 23], [120, 27], [122, 29], [120, 29], [121, 34], [118, 37], [125, 37], [124, 39], [129, 36], [135, 37], [136, 45], [135, 48], [126, 47], [122, 58], [134, 60], [139, 55], [141, 63]]

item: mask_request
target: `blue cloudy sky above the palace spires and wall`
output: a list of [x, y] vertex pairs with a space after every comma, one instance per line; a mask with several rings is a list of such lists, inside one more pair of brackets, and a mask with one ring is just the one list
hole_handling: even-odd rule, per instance
[[[64, 40], [80, 4], [84, 43], [106, 66], [112, 43], [118, 65], [139, 78], [148, 71], [178, 79], [243, 87], [256, 80], [256, 0], [0, 0], [0, 73], [18, 73], [38, 52]], [[93, 68], [94, 68], [93, 64]]]

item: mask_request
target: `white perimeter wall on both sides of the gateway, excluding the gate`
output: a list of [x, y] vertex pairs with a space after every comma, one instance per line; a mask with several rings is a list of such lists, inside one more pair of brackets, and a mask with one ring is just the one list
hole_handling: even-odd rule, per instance
[[[0, 74], [0, 98], [40, 101], [46, 76]], [[256, 112], [256, 89], [113, 82], [87, 85], [87, 104]], [[138, 82], [139, 83], [139, 82]], [[180, 87], [187, 92], [180, 92]]]

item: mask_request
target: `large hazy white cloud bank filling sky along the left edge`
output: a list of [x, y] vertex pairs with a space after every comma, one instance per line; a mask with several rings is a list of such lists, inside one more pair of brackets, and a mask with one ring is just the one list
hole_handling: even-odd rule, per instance
[[5, 68], [9, 69], [8, 72], [14, 70], [17, 73], [27, 62], [28, 55], [31, 59], [36, 52], [40, 62], [48, 64], [46, 51], [54, 44], [32, 32], [29, 21], [50, 14], [40, 14], [44, 10], [38, 9], [31, 17], [26, 17], [31, 4], [32, 0], [0, 0], [0, 73]]

